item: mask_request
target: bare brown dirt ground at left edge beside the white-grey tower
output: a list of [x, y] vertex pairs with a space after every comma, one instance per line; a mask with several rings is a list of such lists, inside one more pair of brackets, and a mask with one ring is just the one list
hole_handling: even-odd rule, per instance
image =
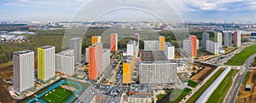
[[7, 90], [8, 84], [3, 82], [3, 78], [13, 76], [13, 66], [1, 66], [0, 68], [0, 102], [2, 103], [15, 103], [16, 100], [11, 98]]

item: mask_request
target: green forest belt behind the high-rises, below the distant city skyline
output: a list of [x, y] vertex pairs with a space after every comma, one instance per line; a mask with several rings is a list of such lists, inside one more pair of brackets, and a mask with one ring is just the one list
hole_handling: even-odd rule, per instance
[[[65, 30], [52, 30], [52, 31], [37, 30], [35, 32], [37, 32], [36, 35], [26, 35], [28, 36], [28, 39], [30, 39], [30, 43], [9, 43], [9, 42], [0, 43], [0, 63], [4, 63], [12, 60], [13, 52], [18, 50], [30, 49], [34, 51], [36, 55], [37, 48], [45, 45], [55, 46], [55, 52], [56, 53], [61, 52], [61, 45], [62, 45], [62, 40], [63, 40]], [[108, 34], [110, 32], [111, 31], [108, 31], [107, 29], [104, 29], [104, 28], [100, 28], [100, 29], [90, 28], [88, 31], [86, 31], [83, 39], [83, 43], [82, 43], [83, 54], [84, 54], [84, 49], [90, 46], [90, 42], [91, 42], [90, 37], [92, 35], [102, 35], [103, 38], [108, 38]], [[134, 31], [121, 30], [121, 31], [117, 31], [117, 33], [119, 33], [118, 48], [125, 49], [126, 43], [134, 39], [133, 34], [136, 32], [142, 35], [140, 37], [140, 39], [141, 38], [142, 39], [139, 43], [140, 49], [143, 49], [143, 40], [153, 39], [153, 38], [157, 40], [158, 39], [157, 37], [159, 35], [165, 36], [166, 42], [171, 42], [173, 45], [178, 47], [176, 37], [174, 37], [172, 31], [158, 31], [156, 33], [155, 32], [152, 33], [153, 31], [148, 32], [148, 31], [135, 31], [135, 30]], [[199, 37], [199, 39], [201, 39], [201, 32], [202, 31], [193, 31], [189, 33], [192, 35], [196, 35]], [[107, 34], [107, 37], [105, 34]], [[127, 34], [131, 36], [126, 37]], [[152, 38], [148, 38], [148, 37], [152, 37]], [[102, 42], [105, 42], [105, 41], [103, 40]]]

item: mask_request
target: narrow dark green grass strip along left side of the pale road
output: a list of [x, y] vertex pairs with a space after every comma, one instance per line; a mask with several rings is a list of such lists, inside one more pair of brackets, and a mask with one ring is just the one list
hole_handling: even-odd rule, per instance
[[195, 103], [195, 101], [203, 94], [206, 89], [214, 82], [214, 80], [222, 73], [224, 72], [224, 68], [221, 68], [216, 72], [206, 83], [204, 83], [200, 89], [198, 89], [195, 94], [193, 94], [187, 103]]

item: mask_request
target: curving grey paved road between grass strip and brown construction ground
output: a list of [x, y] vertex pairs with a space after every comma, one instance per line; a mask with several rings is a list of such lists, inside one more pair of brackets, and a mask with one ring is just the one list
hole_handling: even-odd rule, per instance
[[236, 94], [238, 93], [242, 80], [245, 77], [247, 70], [249, 68], [249, 66], [251, 66], [251, 63], [253, 62], [254, 58], [256, 57], [256, 54], [253, 54], [252, 56], [250, 56], [245, 64], [243, 66], [241, 66], [241, 71], [239, 72], [238, 76], [236, 77], [235, 80], [233, 80], [233, 86], [230, 89], [230, 93], [227, 94], [226, 99], [225, 99], [225, 103], [234, 103], [236, 100]]

